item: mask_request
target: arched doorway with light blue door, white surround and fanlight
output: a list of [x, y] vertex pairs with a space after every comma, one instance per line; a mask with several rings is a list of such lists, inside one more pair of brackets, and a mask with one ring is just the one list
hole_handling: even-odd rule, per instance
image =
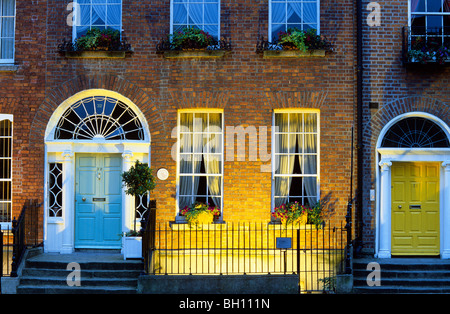
[[53, 113], [45, 148], [44, 250], [121, 248], [136, 217], [120, 175], [135, 160], [150, 164], [139, 108], [113, 91], [77, 93]]

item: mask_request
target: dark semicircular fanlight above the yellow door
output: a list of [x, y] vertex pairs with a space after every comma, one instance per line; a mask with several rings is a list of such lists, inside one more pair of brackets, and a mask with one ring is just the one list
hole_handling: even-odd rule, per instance
[[447, 134], [431, 120], [411, 117], [398, 121], [386, 132], [381, 147], [450, 147]]

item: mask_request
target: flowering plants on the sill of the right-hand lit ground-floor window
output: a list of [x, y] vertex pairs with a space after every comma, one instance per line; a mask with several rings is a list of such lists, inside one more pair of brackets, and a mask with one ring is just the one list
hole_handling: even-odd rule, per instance
[[313, 207], [302, 205], [297, 201], [282, 204], [274, 208], [272, 217], [280, 219], [281, 224], [285, 227], [288, 225], [301, 226], [309, 223], [319, 228], [323, 224], [320, 202]]

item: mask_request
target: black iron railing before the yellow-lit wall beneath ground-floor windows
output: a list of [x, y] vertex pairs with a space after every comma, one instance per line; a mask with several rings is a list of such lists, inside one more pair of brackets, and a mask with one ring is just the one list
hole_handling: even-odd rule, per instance
[[332, 290], [344, 272], [342, 225], [158, 223], [149, 233], [146, 271], [153, 275], [297, 274], [301, 291], [312, 292]]

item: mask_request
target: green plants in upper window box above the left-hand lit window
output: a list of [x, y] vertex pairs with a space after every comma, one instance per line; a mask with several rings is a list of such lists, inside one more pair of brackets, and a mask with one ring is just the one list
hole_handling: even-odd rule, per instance
[[169, 40], [179, 49], [205, 49], [214, 43], [214, 38], [196, 27], [186, 27], [169, 35]]

